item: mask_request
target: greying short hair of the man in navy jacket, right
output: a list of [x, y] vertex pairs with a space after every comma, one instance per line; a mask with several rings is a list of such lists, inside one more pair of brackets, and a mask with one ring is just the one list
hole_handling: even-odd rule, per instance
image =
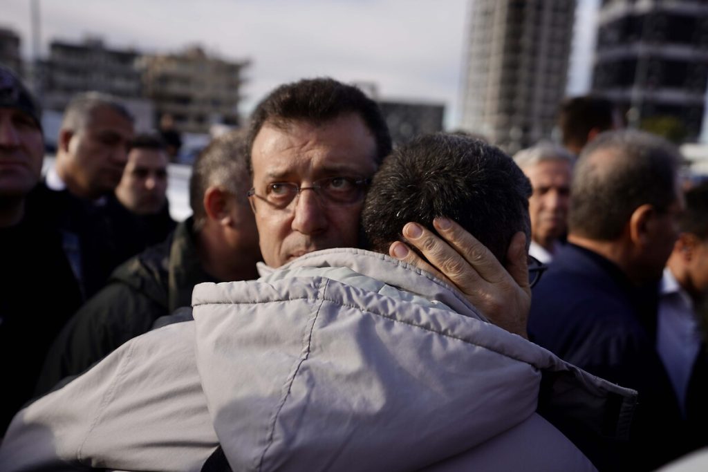
[[[604, 156], [603, 162], [598, 156]], [[613, 241], [641, 205], [665, 212], [676, 200], [680, 161], [678, 149], [653, 134], [635, 130], [600, 134], [576, 163], [570, 232]]]

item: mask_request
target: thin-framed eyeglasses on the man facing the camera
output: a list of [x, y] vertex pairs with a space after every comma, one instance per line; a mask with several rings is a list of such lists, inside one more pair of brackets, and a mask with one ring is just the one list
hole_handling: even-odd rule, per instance
[[300, 187], [294, 182], [269, 183], [265, 195], [258, 195], [255, 188], [246, 194], [267, 202], [275, 209], [290, 206], [303, 190], [312, 190], [321, 202], [332, 205], [350, 205], [359, 202], [364, 197], [365, 189], [371, 183], [370, 178], [359, 177], [327, 177], [315, 180], [310, 187]]

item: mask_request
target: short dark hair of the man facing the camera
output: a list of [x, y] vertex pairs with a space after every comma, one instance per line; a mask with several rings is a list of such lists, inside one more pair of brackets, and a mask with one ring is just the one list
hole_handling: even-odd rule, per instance
[[323, 125], [346, 113], [355, 113], [363, 120], [376, 142], [376, 163], [391, 152], [392, 142], [386, 120], [379, 105], [359, 88], [334, 79], [303, 79], [285, 84], [270, 92], [251, 114], [246, 153], [251, 172], [251, 148], [265, 122], [285, 127], [291, 122], [304, 121]]

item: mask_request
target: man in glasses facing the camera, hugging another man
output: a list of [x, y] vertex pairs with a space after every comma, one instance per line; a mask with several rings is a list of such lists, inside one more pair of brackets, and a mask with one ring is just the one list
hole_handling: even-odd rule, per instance
[[[253, 112], [246, 150], [251, 207], [268, 267], [319, 249], [358, 246], [367, 179], [391, 150], [387, 125], [373, 100], [332, 79], [280, 86]], [[323, 205], [317, 192], [307, 190], [321, 185], [351, 186], [355, 198]], [[274, 211], [280, 206], [287, 211]], [[394, 242], [389, 255], [452, 283], [490, 321], [525, 336], [530, 290], [523, 233], [506, 248], [505, 270], [497, 260], [480, 256], [476, 239], [454, 222], [435, 230], [407, 223], [406, 243]]]

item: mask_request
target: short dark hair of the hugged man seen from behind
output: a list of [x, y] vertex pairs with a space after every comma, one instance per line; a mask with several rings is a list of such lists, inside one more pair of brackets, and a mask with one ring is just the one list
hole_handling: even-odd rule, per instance
[[374, 175], [362, 210], [365, 244], [386, 253], [408, 221], [457, 221], [504, 262], [511, 239], [530, 241], [531, 183], [514, 161], [479, 139], [427, 134], [397, 148]]

